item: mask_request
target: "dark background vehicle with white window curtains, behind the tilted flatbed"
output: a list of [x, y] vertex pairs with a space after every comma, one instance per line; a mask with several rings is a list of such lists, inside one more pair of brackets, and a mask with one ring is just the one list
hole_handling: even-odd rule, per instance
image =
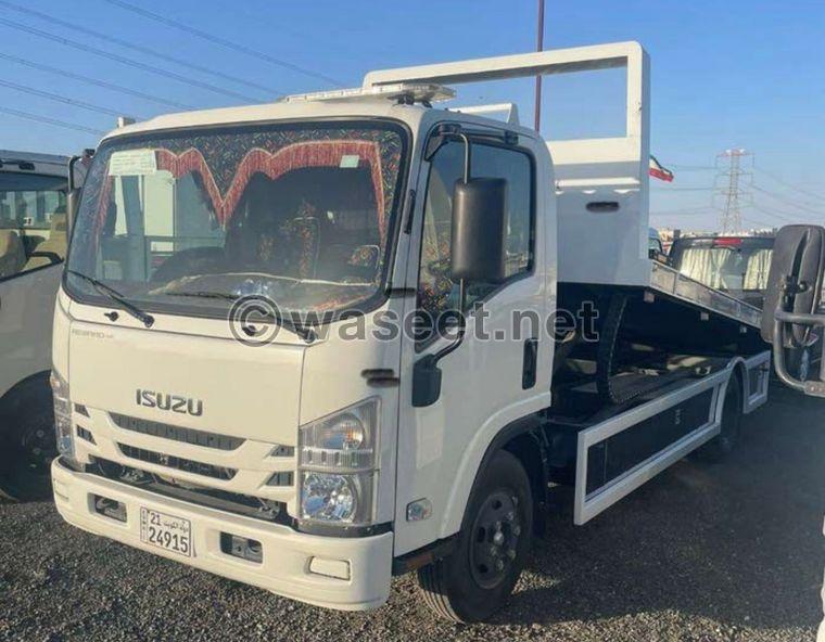
[[762, 307], [773, 236], [681, 236], [671, 247], [680, 273]]

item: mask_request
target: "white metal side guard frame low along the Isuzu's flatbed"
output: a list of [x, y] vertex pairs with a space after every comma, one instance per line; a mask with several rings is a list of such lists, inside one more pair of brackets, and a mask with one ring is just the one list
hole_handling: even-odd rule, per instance
[[[731, 381], [731, 376], [734, 376], [737, 364], [744, 363], [746, 372], [749, 373], [754, 368], [764, 371], [766, 363], [770, 367], [770, 360], [771, 354], [769, 351], [761, 352], [746, 360], [738, 357], [734, 358], [723, 370], [720, 370], [714, 374], [579, 433], [573, 522], [576, 525], [582, 525], [589, 519], [593, 519], [593, 517], [633, 492], [645, 482], [648, 482], [668, 466], [684, 458], [690, 451], [696, 450], [699, 446], [715, 437], [719, 434], [722, 424], [722, 406], [724, 403], [727, 384]], [[767, 397], [766, 375], [761, 375], [760, 386], [757, 390], [750, 390], [749, 382], [749, 376], [746, 376], [742, 382], [742, 395], [745, 399], [742, 410], [745, 413], [751, 412], [757, 407], [764, 403]], [[636, 466], [600, 487], [598, 490], [595, 490], [589, 495], [587, 493], [587, 451], [592, 446], [600, 444], [605, 439], [608, 439], [622, 431], [632, 428], [638, 423], [664, 412], [665, 410], [709, 389], [713, 389], [713, 398], [710, 403], [708, 421], [705, 424], [688, 433], [677, 441], [674, 441], [664, 450], [661, 450], [647, 460], [638, 463]]]

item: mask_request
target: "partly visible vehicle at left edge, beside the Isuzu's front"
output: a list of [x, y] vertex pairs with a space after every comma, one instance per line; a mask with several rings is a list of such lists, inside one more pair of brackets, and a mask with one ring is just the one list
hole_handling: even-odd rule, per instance
[[56, 453], [49, 370], [67, 164], [0, 151], [0, 488], [14, 497], [48, 490]]

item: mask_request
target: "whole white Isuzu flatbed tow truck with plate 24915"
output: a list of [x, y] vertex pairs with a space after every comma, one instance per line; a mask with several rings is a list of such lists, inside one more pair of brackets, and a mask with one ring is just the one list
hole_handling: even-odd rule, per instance
[[[445, 85], [626, 69], [545, 142]], [[498, 608], [550, 485], [584, 524], [766, 397], [760, 311], [651, 260], [635, 42], [368, 74], [101, 142], [54, 317], [63, 517], [326, 607], [417, 569]]]

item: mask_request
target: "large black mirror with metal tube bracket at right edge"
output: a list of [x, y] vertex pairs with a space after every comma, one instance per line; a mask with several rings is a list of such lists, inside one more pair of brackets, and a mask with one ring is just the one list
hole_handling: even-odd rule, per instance
[[[822, 341], [825, 312], [822, 305], [825, 278], [825, 228], [786, 226], [779, 230], [771, 258], [762, 308], [762, 338], [773, 345], [774, 368], [788, 386], [825, 396], [825, 384], [808, 378], [809, 348]], [[822, 349], [821, 346], [816, 346]], [[796, 356], [796, 357], [795, 357]], [[795, 365], [789, 372], [787, 358]]]

